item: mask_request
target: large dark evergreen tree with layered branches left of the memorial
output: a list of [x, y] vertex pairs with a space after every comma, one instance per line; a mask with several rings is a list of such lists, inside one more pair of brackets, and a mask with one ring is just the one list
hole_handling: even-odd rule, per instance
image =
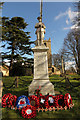
[[14, 60], [24, 61], [26, 54], [31, 55], [30, 32], [24, 32], [27, 25], [22, 17], [2, 18], [2, 47], [7, 50], [2, 52], [2, 59], [10, 60], [10, 75]]

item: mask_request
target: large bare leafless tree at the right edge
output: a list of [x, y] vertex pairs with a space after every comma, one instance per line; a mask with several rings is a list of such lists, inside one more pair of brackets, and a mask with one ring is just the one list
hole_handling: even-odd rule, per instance
[[71, 31], [64, 40], [65, 54], [68, 60], [75, 61], [77, 73], [80, 74], [80, 50], [78, 33]]

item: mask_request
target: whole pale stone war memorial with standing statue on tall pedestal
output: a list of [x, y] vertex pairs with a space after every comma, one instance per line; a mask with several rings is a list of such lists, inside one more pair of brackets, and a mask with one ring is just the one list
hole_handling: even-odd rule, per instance
[[36, 89], [41, 87], [41, 93], [43, 95], [54, 93], [54, 85], [49, 81], [48, 76], [48, 59], [47, 52], [49, 50], [43, 43], [45, 34], [45, 25], [42, 23], [42, 1], [41, 1], [40, 17], [38, 17], [38, 23], [35, 28], [37, 35], [37, 43], [35, 48], [32, 48], [34, 52], [34, 78], [29, 86], [29, 95], [34, 95]]

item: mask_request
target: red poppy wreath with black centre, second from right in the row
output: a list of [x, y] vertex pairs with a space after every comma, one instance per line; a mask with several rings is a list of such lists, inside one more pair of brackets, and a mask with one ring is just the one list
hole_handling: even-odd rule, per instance
[[64, 107], [64, 96], [63, 95], [56, 96], [55, 107]]

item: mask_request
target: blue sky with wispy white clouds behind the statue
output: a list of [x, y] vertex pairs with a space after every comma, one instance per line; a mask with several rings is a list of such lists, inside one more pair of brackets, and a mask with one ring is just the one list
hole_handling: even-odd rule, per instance
[[[51, 38], [52, 54], [57, 54], [63, 46], [64, 38], [69, 33], [72, 20], [76, 15], [73, 2], [43, 2], [42, 22], [46, 26], [45, 40]], [[23, 17], [28, 23], [26, 31], [30, 32], [31, 40], [37, 39], [35, 24], [40, 16], [39, 2], [5, 2], [2, 16]], [[31, 46], [32, 48], [34, 45]], [[29, 56], [28, 56], [29, 57]], [[33, 57], [33, 55], [32, 55]]]

